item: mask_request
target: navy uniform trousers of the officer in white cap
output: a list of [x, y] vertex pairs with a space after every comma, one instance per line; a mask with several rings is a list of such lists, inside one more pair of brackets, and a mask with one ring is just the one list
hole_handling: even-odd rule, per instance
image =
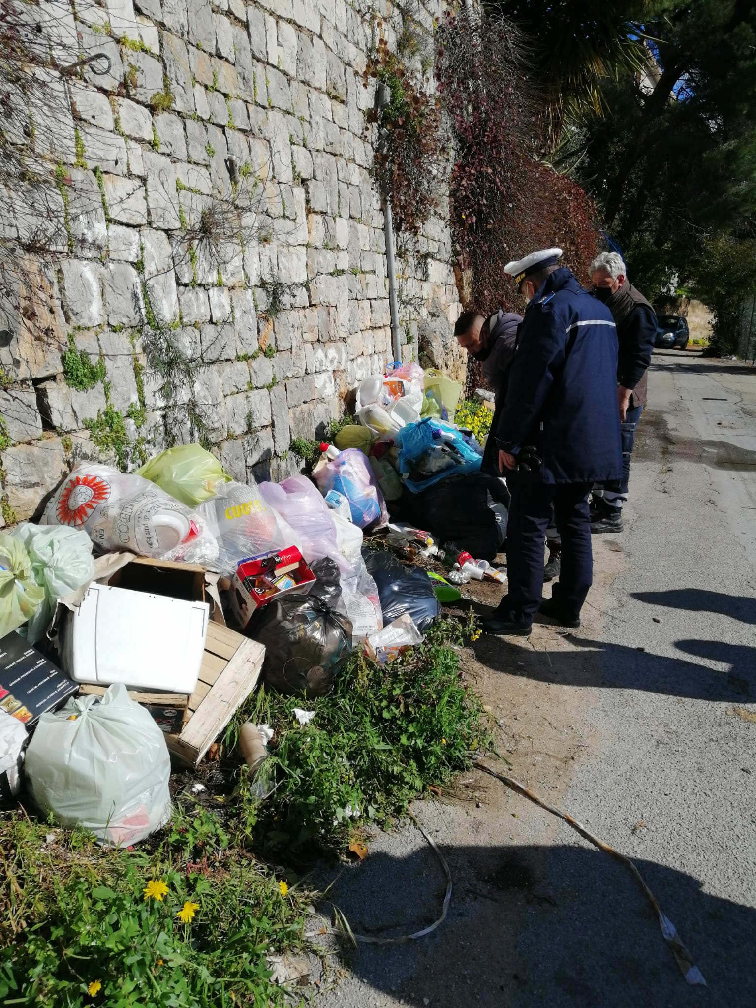
[[577, 617], [593, 583], [590, 483], [543, 483], [536, 473], [507, 473], [512, 494], [507, 524], [508, 593], [502, 618], [530, 625], [543, 591], [543, 547], [551, 508], [561, 536], [561, 570], [551, 598]]

